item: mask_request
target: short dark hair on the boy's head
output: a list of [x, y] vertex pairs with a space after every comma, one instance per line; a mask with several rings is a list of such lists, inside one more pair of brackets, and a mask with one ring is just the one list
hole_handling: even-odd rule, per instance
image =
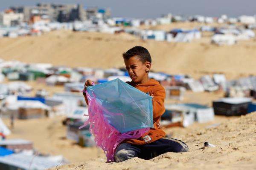
[[137, 55], [140, 58], [140, 61], [145, 63], [146, 61], [151, 63], [151, 56], [147, 49], [143, 46], [134, 46], [133, 48], [129, 49], [127, 52], [123, 53], [123, 58], [125, 60], [129, 60], [129, 58]]

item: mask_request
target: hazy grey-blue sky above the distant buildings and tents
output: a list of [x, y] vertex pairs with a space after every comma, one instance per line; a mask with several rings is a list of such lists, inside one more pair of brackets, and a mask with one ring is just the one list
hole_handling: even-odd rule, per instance
[[38, 2], [109, 7], [113, 17], [154, 18], [166, 13], [216, 17], [256, 14], [256, 0], [0, 0], [0, 11], [9, 6], [35, 6]]

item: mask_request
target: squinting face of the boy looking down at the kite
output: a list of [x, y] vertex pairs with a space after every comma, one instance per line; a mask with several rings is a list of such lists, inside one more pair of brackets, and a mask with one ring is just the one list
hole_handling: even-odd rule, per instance
[[136, 84], [142, 84], [149, 80], [148, 72], [151, 68], [151, 63], [146, 61], [143, 63], [136, 55], [125, 60], [125, 68], [128, 71], [130, 78]]

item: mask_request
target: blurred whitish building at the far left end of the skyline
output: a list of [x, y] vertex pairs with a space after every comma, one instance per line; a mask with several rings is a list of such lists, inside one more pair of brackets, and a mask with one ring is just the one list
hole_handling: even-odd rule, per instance
[[4, 26], [16, 26], [24, 20], [23, 13], [15, 13], [12, 9], [7, 9], [0, 14], [0, 24]]

